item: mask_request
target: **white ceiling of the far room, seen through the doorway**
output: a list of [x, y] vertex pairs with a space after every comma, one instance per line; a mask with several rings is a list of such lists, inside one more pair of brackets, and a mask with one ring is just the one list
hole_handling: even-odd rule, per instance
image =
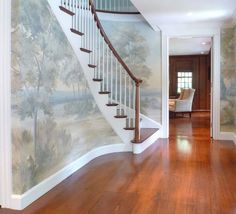
[[169, 55], [208, 54], [211, 49], [211, 38], [171, 38]]

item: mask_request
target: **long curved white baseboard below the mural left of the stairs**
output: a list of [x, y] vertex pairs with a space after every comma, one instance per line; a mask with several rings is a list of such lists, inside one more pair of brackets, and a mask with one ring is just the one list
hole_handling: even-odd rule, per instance
[[23, 195], [12, 195], [11, 197], [11, 207], [10, 209], [22, 210], [32, 202], [40, 198], [42, 195], [47, 193], [53, 187], [61, 183], [71, 174], [82, 168], [84, 165], [92, 161], [93, 159], [110, 153], [115, 152], [131, 152], [132, 144], [114, 144], [103, 146], [97, 149], [94, 149], [76, 161], [72, 162], [68, 166], [64, 167], [54, 175], [50, 176], [46, 180], [39, 183], [37, 186], [28, 190]]

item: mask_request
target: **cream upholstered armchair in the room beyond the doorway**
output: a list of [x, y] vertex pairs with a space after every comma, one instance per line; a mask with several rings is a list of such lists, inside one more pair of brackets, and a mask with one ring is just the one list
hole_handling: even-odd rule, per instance
[[174, 117], [178, 112], [189, 113], [191, 117], [194, 93], [195, 89], [182, 88], [178, 99], [169, 99], [169, 111], [173, 112]]

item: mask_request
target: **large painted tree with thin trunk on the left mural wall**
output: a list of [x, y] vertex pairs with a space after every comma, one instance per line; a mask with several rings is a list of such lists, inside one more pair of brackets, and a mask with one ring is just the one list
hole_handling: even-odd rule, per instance
[[68, 72], [71, 67], [67, 63], [75, 60], [71, 60], [74, 58], [67, 50], [68, 45], [63, 44], [64, 35], [48, 4], [14, 0], [13, 7], [21, 8], [14, 10], [20, 14], [12, 21], [12, 70], [16, 83], [12, 93], [21, 97], [18, 108], [21, 119], [33, 119], [34, 158], [37, 161], [39, 117], [52, 117], [50, 97], [59, 81], [60, 71]]

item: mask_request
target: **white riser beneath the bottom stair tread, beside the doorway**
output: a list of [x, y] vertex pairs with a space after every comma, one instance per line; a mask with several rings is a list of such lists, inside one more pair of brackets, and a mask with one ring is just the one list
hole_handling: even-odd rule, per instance
[[160, 138], [161, 132], [158, 130], [155, 134], [140, 144], [133, 144], [133, 153], [140, 154]]

